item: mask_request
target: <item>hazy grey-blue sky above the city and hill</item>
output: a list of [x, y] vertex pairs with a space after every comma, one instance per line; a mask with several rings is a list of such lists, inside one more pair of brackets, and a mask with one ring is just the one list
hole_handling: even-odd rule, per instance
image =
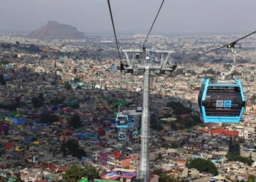
[[[148, 33], [162, 0], [110, 0], [116, 32]], [[165, 0], [152, 32], [256, 30], [256, 0]], [[33, 31], [48, 20], [78, 31], [113, 31], [107, 0], [1, 0], [0, 31]]]

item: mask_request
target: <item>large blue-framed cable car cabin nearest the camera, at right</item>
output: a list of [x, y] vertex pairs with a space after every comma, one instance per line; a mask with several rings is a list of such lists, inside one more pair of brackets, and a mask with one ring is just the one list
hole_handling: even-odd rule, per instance
[[211, 82], [204, 78], [198, 94], [198, 107], [203, 122], [238, 123], [246, 106], [239, 79]]

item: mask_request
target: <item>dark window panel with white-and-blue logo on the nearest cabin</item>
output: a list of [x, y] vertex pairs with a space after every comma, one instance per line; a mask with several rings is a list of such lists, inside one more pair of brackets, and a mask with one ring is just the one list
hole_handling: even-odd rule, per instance
[[240, 116], [244, 107], [239, 87], [208, 87], [203, 105], [206, 116]]

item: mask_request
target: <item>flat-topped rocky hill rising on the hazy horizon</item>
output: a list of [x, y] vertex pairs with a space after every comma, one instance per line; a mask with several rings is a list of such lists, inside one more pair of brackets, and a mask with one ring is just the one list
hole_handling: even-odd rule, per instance
[[42, 28], [29, 33], [29, 38], [34, 39], [83, 39], [84, 34], [71, 25], [63, 25], [56, 21], [48, 21]]

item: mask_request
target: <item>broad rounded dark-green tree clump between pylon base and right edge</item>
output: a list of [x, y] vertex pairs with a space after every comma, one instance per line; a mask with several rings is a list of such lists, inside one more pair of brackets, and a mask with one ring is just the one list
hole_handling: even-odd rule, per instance
[[217, 167], [209, 160], [206, 159], [190, 159], [186, 163], [186, 167], [195, 168], [200, 171], [200, 173], [206, 172], [211, 173], [211, 175], [217, 175], [218, 170]]

